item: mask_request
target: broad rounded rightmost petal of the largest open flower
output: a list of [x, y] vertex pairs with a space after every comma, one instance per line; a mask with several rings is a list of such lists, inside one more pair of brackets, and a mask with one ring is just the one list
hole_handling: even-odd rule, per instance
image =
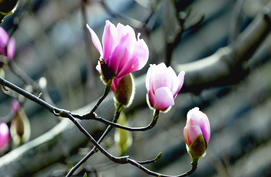
[[119, 71], [118, 75], [123, 76], [130, 72], [142, 69], [143, 66], [146, 65], [148, 57], [149, 57], [148, 46], [143, 41], [143, 39], [140, 39], [139, 41], [135, 42], [133, 54], [128, 63], [122, 61], [121, 66], [123, 66], [123, 68]]

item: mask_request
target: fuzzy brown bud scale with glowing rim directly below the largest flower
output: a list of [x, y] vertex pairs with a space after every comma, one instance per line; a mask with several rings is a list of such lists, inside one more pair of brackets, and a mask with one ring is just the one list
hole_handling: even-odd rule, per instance
[[133, 101], [134, 92], [135, 87], [133, 76], [131, 73], [126, 74], [118, 82], [118, 86], [115, 90], [115, 101], [124, 106], [130, 106]]

